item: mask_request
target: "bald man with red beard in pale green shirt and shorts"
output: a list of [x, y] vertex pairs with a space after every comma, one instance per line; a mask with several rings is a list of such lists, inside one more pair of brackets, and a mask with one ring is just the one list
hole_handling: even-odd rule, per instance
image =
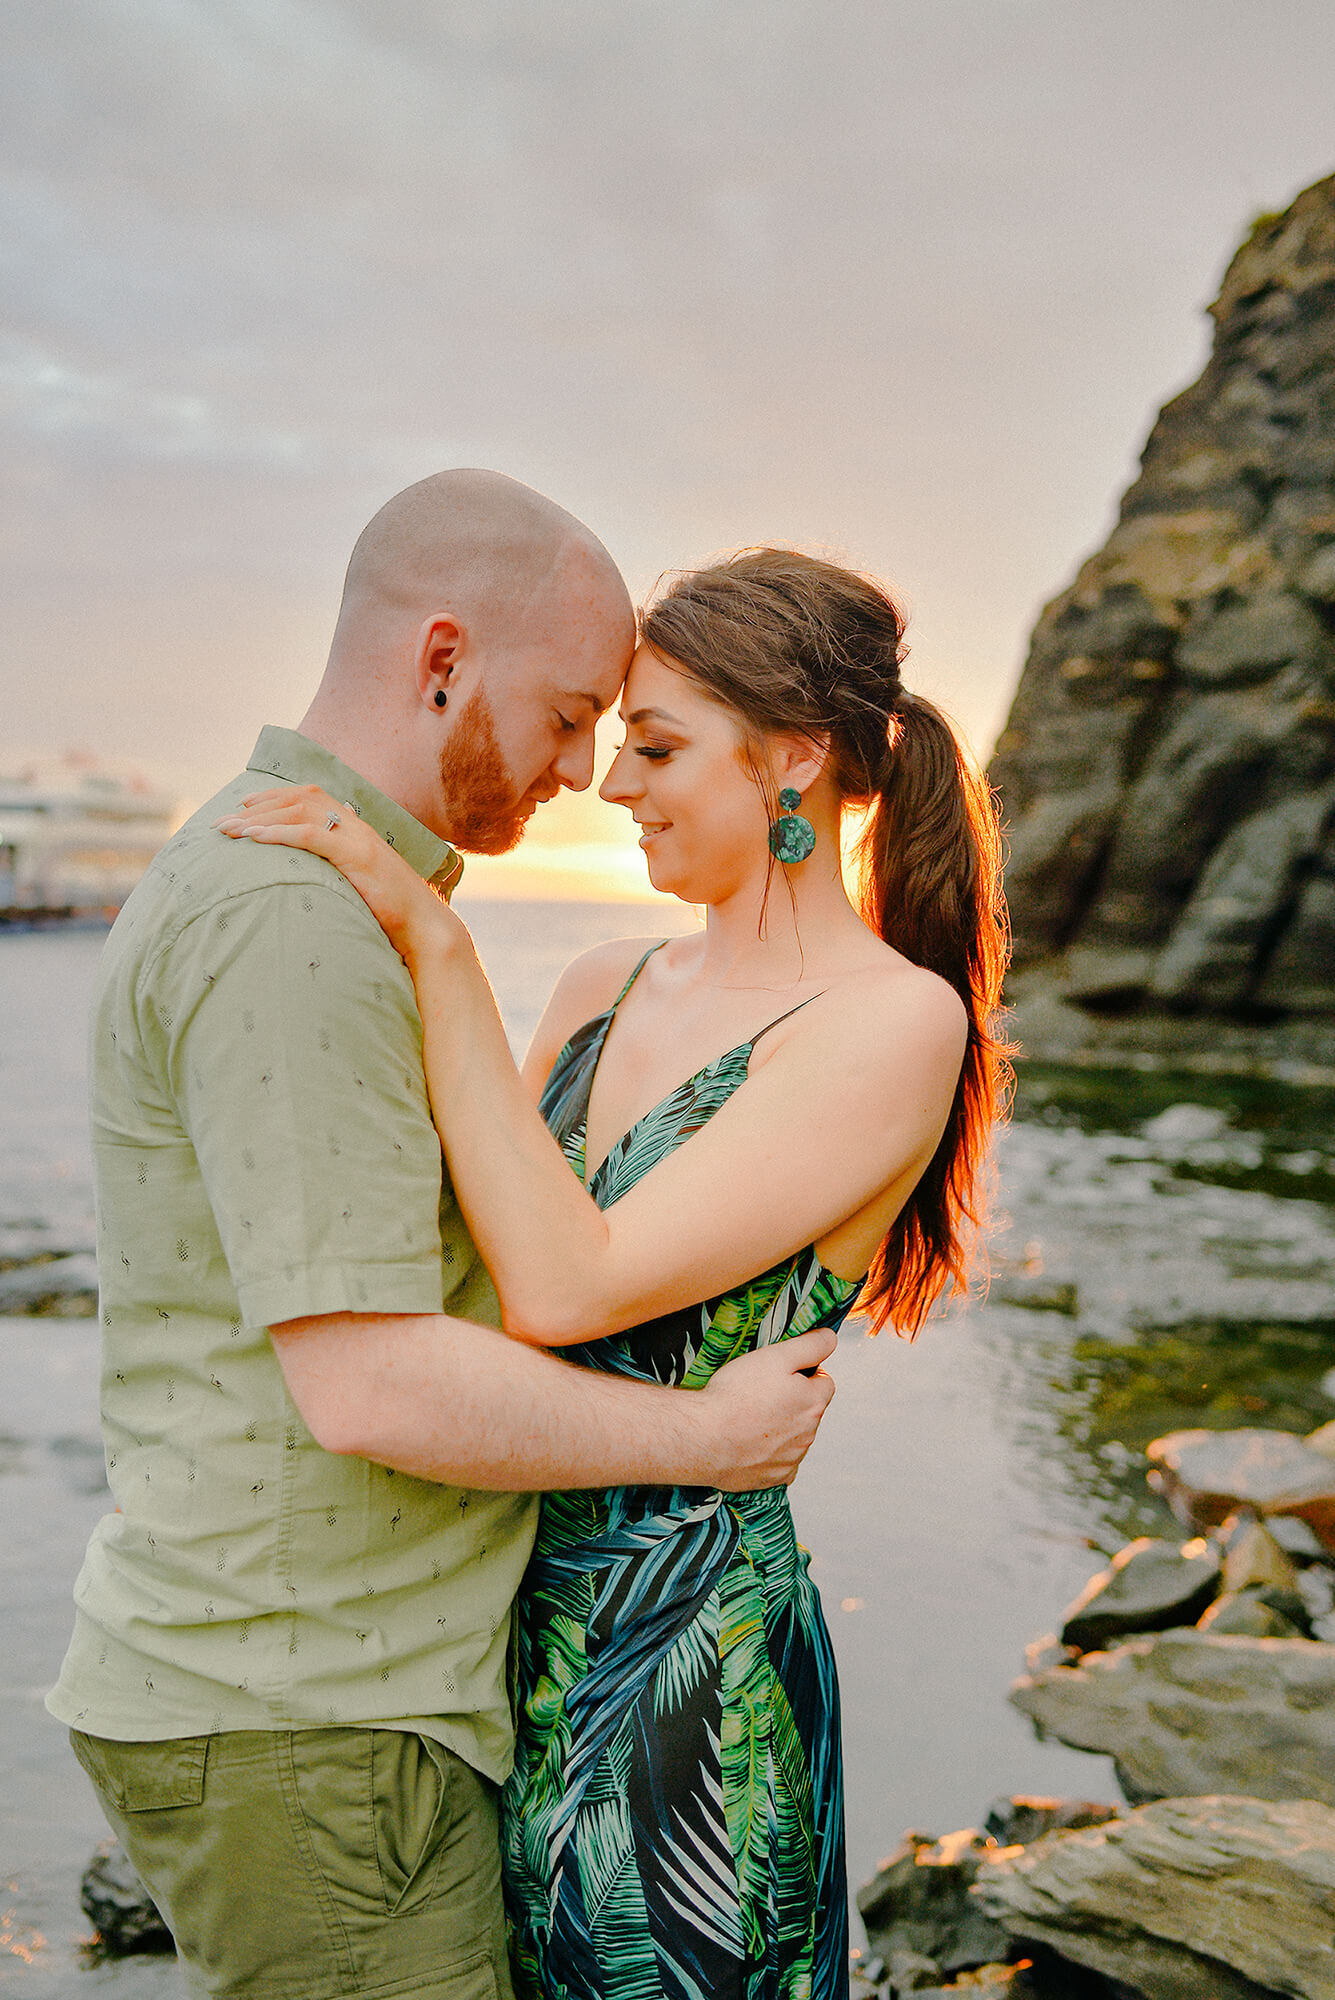
[[104, 1432], [50, 1708], [196, 1994], [508, 1994], [496, 1784], [542, 1488], [789, 1478], [825, 1334], [699, 1394], [506, 1340], [408, 972], [344, 878], [212, 830], [316, 782], [452, 888], [594, 768], [634, 646], [602, 544], [448, 472], [362, 534], [300, 732], [162, 850], [92, 1028]]

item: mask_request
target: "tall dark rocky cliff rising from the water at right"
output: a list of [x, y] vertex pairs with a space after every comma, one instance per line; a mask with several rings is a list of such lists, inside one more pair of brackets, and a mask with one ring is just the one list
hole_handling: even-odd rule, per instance
[[1335, 1028], [1335, 176], [1211, 314], [997, 744], [1017, 964], [1099, 1010]]

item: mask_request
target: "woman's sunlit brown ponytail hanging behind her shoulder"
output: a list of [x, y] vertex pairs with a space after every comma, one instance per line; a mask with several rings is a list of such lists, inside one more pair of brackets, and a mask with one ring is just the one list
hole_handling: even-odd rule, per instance
[[967, 1290], [987, 1146], [1011, 1082], [1009, 1048], [995, 1032], [1009, 960], [997, 810], [941, 710], [919, 694], [895, 700], [859, 862], [865, 922], [953, 986], [969, 1024], [945, 1132], [861, 1296], [873, 1328], [889, 1320], [911, 1336], [947, 1286]]

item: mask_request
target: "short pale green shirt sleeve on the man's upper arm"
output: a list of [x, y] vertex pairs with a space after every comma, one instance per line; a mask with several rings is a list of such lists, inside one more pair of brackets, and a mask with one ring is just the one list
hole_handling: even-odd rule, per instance
[[180, 932], [142, 1004], [246, 1322], [440, 1312], [422, 1022], [360, 898], [300, 878], [234, 896]]

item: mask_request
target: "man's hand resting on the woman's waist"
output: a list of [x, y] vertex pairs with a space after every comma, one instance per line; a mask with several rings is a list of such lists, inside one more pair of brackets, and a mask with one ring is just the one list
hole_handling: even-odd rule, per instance
[[819, 1364], [835, 1346], [837, 1336], [819, 1328], [719, 1368], [699, 1390], [707, 1424], [701, 1486], [729, 1494], [791, 1486], [833, 1396]]

